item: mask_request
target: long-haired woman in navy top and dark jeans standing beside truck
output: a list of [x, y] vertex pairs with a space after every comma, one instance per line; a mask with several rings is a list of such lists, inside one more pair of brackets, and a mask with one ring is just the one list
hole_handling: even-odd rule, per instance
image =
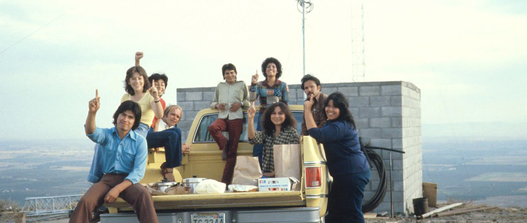
[[304, 102], [308, 133], [324, 145], [329, 173], [333, 176], [326, 221], [364, 222], [362, 201], [369, 182], [369, 165], [360, 151], [355, 121], [344, 94], [330, 94], [324, 105], [328, 122], [319, 129], [311, 114], [313, 99]]

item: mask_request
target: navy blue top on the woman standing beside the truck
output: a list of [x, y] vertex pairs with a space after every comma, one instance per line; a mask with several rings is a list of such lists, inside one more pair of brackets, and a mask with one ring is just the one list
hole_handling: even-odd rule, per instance
[[309, 129], [307, 132], [324, 145], [331, 176], [343, 176], [369, 170], [366, 157], [360, 151], [357, 131], [352, 124], [329, 120], [322, 128]]

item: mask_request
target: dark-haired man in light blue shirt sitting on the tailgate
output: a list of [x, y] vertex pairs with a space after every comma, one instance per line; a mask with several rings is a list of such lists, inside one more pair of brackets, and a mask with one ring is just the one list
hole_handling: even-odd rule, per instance
[[[100, 108], [99, 92], [89, 102], [84, 126], [86, 136], [101, 144], [102, 156], [97, 162], [98, 172], [104, 175], [82, 196], [70, 222], [89, 222], [92, 212], [99, 206], [114, 202], [118, 197], [130, 203], [140, 222], [158, 222], [152, 196], [138, 182], [143, 179], [147, 164], [147, 140], [134, 129], [141, 120], [141, 108], [133, 101], [124, 101], [113, 114], [110, 129], [95, 127], [95, 114]], [[96, 172], [97, 172], [96, 171]]]

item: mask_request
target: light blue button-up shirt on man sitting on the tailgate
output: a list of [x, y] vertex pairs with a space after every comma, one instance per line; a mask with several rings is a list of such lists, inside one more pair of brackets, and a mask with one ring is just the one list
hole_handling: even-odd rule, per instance
[[115, 127], [95, 127], [95, 131], [86, 136], [99, 143], [95, 146], [88, 181], [99, 182], [104, 173], [128, 174], [125, 179], [134, 184], [143, 179], [148, 156], [147, 140], [144, 137], [130, 131], [121, 140]]

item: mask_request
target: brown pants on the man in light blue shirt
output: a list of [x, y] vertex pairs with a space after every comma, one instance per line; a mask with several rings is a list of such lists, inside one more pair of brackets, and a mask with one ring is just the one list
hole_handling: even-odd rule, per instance
[[[126, 176], [127, 174], [107, 173], [102, 177], [101, 181], [94, 183], [77, 203], [70, 218], [70, 223], [90, 222], [93, 211], [103, 204], [106, 193], [123, 182]], [[135, 183], [124, 189], [119, 194], [119, 197], [132, 205], [140, 222], [159, 222], [158, 216], [155, 214], [152, 196], [140, 183]]]

